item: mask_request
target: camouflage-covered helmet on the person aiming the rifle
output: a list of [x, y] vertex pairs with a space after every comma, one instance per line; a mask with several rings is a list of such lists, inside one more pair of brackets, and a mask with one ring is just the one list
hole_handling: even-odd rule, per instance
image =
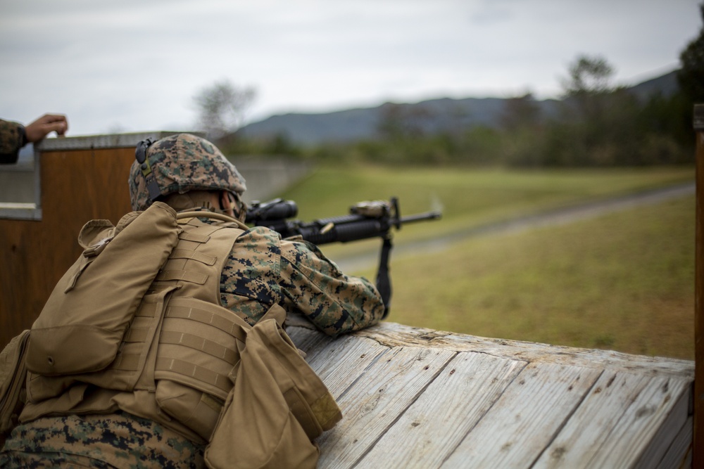
[[213, 143], [191, 134], [142, 141], [130, 167], [132, 210], [157, 198], [188, 191], [246, 191], [244, 177]]

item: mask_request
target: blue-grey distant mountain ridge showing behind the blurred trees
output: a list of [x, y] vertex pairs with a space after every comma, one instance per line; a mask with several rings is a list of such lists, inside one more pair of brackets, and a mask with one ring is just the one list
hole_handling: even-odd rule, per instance
[[[636, 96], [645, 97], [660, 92], [665, 96], [677, 89], [676, 72], [631, 86]], [[333, 113], [289, 113], [272, 115], [239, 129], [238, 134], [252, 139], [285, 136], [298, 145], [339, 143], [379, 136], [379, 124], [384, 115], [396, 112], [413, 116], [425, 133], [451, 131], [474, 125], [496, 127], [507, 98], [439, 98], [420, 103], [384, 103], [375, 108], [339, 110]], [[535, 101], [543, 116], [554, 115], [560, 101]]]

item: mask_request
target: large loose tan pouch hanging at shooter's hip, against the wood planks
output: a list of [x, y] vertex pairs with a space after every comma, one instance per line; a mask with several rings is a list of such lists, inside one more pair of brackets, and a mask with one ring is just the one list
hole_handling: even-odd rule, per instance
[[325, 383], [275, 319], [247, 333], [205, 459], [210, 468], [315, 468], [313, 439], [342, 418]]

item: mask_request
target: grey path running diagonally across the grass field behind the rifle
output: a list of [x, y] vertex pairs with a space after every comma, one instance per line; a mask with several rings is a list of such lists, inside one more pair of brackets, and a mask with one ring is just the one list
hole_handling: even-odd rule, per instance
[[[534, 229], [541, 226], [558, 226], [562, 224], [572, 223], [572, 221], [589, 219], [598, 217], [601, 214], [610, 212], [618, 212], [627, 210], [641, 205], [650, 205], [660, 203], [671, 198], [685, 197], [693, 195], [696, 190], [695, 183], [679, 184], [667, 188], [655, 189], [652, 191], [643, 191], [639, 193], [622, 195], [621, 197], [612, 198], [609, 200], [600, 200], [598, 202], [584, 203], [557, 210], [549, 210], [541, 214], [527, 215], [517, 217], [515, 219], [491, 223], [465, 231], [452, 233], [443, 238], [432, 240], [415, 241], [413, 243], [397, 244], [394, 246], [394, 251], [391, 253], [391, 263], [399, 256], [407, 255], [414, 252], [440, 252], [448, 249], [452, 243], [456, 243], [474, 236], [486, 236], [490, 234], [503, 234]], [[380, 244], [379, 244], [380, 245]], [[337, 265], [344, 272], [359, 271], [367, 269], [370, 266], [375, 266], [379, 258], [379, 252], [369, 251], [355, 257], [347, 257], [334, 259]]]

